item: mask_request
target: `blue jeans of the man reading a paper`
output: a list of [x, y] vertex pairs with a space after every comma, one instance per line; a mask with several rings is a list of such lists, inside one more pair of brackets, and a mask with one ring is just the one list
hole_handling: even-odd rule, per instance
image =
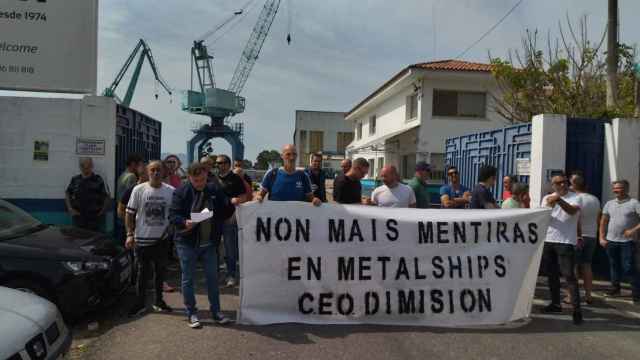
[[176, 250], [182, 268], [182, 297], [187, 309], [187, 316], [198, 312], [196, 296], [193, 289], [193, 277], [198, 260], [202, 261], [204, 275], [207, 280], [207, 295], [211, 314], [220, 312], [220, 291], [218, 290], [218, 254], [213, 245], [194, 248], [189, 245], [176, 243]]

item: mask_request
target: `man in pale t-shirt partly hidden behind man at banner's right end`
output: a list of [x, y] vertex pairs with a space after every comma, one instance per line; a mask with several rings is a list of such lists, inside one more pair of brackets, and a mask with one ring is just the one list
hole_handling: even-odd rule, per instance
[[587, 304], [593, 303], [591, 291], [593, 290], [593, 271], [591, 263], [593, 254], [598, 245], [597, 232], [600, 223], [600, 200], [586, 192], [584, 176], [573, 174], [571, 176], [571, 188], [581, 198], [580, 227], [582, 228], [582, 246], [576, 248], [577, 273], [582, 276], [584, 282], [584, 300]]

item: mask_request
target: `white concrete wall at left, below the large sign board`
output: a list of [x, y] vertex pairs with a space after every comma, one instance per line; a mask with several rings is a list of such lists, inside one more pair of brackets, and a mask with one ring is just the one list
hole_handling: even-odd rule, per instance
[[[105, 155], [92, 158], [113, 197], [115, 118], [116, 104], [106, 97], [0, 97], [0, 197], [62, 200], [79, 174], [78, 137], [105, 140]], [[48, 161], [33, 159], [34, 141], [49, 142]]]

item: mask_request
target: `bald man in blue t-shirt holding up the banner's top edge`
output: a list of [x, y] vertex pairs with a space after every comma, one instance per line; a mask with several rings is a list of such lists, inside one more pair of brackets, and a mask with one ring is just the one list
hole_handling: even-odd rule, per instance
[[322, 200], [313, 195], [309, 176], [303, 170], [296, 169], [296, 147], [285, 145], [280, 156], [283, 166], [264, 174], [256, 200], [262, 202], [269, 194], [269, 200], [272, 201], [309, 201], [315, 206], [322, 204]]

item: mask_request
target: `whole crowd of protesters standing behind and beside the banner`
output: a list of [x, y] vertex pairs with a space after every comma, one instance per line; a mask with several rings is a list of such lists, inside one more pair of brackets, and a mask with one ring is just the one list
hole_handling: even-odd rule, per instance
[[[138, 297], [130, 316], [147, 311], [145, 284], [154, 279], [153, 309], [171, 312], [163, 300], [163, 292], [172, 291], [166, 284], [168, 261], [177, 254], [182, 272], [181, 290], [189, 326], [200, 327], [194, 295], [196, 264], [201, 262], [213, 319], [226, 324], [220, 311], [218, 272], [221, 248], [224, 249], [226, 277], [229, 287], [238, 282], [238, 226], [235, 207], [253, 199], [270, 201], [304, 201], [321, 206], [328, 201], [326, 177], [322, 169], [323, 155], [312, 154], [310, 166], [297, 169], [294, 145], [282, 148], [282, 166], [266, 172], [257, 194], [252, 179], [244, 172], [240, 160], [233, 164], [227, 155], [204, 156], [185, 171], [180, 159], [169, 155], [164, 160], [145, 164], [139, 155], [127, 158], [125, 171], [117, 179], [116, 237], [133, 250], [137, 264]], [[74, 176], [66, 190], [66, 204], [74, 225], [97, 230], [104, 223], [109, 195], [102, 178], [93, 172], [90, 158], [80, 159], [80, 174]], [[361, 180], [369, 174], [364, 158], [342, 161], [342, 169], [333, 181], [332, 199], [339, 204], [359, 204], [395, 208], [432, 208], [428, 181], [431, 166], [420, 161], [415, 175], [407, 184], [401, 181], [392, 165], [380, 169], [382, 184], [370, 196], [363, 196]], [[498, 171], [491, 165], [479, 168], [476, 185], [469, 189], [461, 182], [455, 166], [446, 171], [447, 183], [439, 189], [442, 209], [518, 209], [529, 208], [529, 189], [514, 176], [502, 178], [501, 201], [492, 189]], [[540, 204], [551, 209], [551, 222], [546, 234], [542, 267], [548, 276], [551, 302], [543, 311], [562, 312], [560, 276], [569, 296], [573, 322], [583, 321], [578, 276], [584, 281], [584, 300], [593, 302], [591, 263], [598, 243], [607, 253], [612, 288], [608, 296], [621, 294], [621, 282], [628, 277], [632, 299], [640, 304], [640, 271], [634, 254], [640, 232], [640, 203], [629, 197], [629, 183], [613, 183], [613, 200], [603, 208], [599, 200], [587, 192], [582, 174], [557, 174], [550, 179], [551, 191]], [[436, 194], [438, 195], [438, 194]], [[500, 205], [499, 205], [500, 204]], [[196, 222], [192, 213], [210, 213], [211, 217]], [[175, 248], [174, 248], [175, 246]]]

